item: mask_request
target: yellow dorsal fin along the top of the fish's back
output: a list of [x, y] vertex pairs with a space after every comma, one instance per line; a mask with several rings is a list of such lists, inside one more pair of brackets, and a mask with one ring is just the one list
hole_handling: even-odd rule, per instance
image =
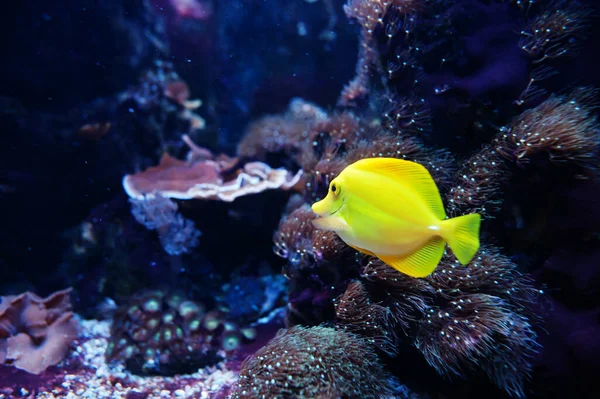
[[440, 192], [431, 174], [423, 165], [396, 158], [365, 158], [352, 166], [366, 172], [385, 175], [410, 187], [438, 219], [446, 219]]

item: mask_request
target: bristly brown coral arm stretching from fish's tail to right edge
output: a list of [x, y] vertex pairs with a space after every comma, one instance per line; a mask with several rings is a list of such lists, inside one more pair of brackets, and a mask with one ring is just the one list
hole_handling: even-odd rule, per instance
[[446, 197], [448, 214], [479, 212], [489, 217], [501, 203], [498, 194], [510, 179], [511, 168], [526, 165], [537, 154], [597, 170], [597, 95], [597, 90], [585, 87], [564, 96], [552, 95], [501, 128], [492, 144], [463, 163]]

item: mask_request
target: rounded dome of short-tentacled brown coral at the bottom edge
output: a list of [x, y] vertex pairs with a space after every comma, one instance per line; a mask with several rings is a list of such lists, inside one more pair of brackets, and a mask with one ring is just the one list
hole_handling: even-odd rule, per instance
[[280, 331], [242, 364], [232, 393], [244, 398], [385, 398], [392, 378], [361, 338], [329, 327]]

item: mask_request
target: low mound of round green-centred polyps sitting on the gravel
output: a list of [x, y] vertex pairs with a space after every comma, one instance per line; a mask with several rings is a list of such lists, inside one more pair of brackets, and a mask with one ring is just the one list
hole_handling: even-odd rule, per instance
[[106, 358], [139, 375], [189, 374], [217, 364], [254, 338], [251, 329], [181, 294], [145, 291], [117, 310]]

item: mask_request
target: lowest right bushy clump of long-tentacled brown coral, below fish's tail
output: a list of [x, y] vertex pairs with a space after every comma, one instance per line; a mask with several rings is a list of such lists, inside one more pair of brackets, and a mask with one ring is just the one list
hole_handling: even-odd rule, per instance
[[483, 371], [509, 394], [524, 397], [536, 337], [531, 321], [509, 302], [464, 294], [448, 306], [429, 309], [415, 346], [440, 373]]

